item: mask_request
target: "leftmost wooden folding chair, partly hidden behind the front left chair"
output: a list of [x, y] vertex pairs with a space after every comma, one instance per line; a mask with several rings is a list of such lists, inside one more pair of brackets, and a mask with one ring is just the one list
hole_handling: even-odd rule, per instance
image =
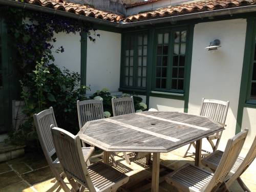
[[[61, 187], [65, 191], [70, 191], [69, 187], [63, 181], [65, 174], [59, 173], [57, 168], [61, 167], [58, 158], [54, 158], [55, 148], [53, 145], [53, 139], [51, 134], [51, 125], [57, 126], [56, 119], [54, 116], [53, 108], [50, 107], [48, 110], [42, 111], [38, 114], [34, 114], [34, 123], [36, 132], [38, 135], [39, 142], [42, 147], [42, 151], [46, 157], [46, 160], [50, 166], [52, 173], [56, 180], [53, 180], [54, 185], [47, 191], [54, 191], [56, 188]], [[84, 155], [88, 154], [90, 147], [82, 148]], [[90, 163], [88, 161], [88, 163]]]

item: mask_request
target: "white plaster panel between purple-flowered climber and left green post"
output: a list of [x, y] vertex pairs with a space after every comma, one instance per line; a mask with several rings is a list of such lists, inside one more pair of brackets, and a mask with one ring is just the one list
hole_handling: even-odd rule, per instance
[[62, 70], [63, 67], [69, 69], [70, 71], [78, 72], [80, 74], [80, 63], [81, 63], [81, 43], [80, 34], [76, 33], [55, 33], [56, 42], [54, 43], [54, 50], [58, 47], [63, 46], [63, 53], [53, 52], [55, 58], [54, 64], [59, 66]]

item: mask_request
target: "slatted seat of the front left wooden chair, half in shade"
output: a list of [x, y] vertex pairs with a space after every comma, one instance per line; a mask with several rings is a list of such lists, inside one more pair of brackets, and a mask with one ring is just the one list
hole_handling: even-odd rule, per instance
[[90, 165], [88, 167], [88, 172], [94, 187], [97, 188], [96, 191], [104, 191], [112, 185], [115, 185], [115, 188], [118, 188], [129, 180], [128, 176], [102, 162]]

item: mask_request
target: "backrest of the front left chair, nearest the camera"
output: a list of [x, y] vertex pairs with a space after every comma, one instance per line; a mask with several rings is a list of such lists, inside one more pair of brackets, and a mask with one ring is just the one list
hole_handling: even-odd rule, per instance
[[74, 178], [81, 185], [87, 187], [89, 191], [96, 192], [84, 161], [79, 136], [53, 127], [52, 137], [59, 162], [66, 176]]

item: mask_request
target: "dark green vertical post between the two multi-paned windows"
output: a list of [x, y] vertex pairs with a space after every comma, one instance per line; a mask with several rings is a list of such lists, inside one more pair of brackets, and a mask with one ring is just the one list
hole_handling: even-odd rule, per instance
[[150, 94], [151, 94], [151, 76], [153, 69], [153, 50], [154, 50], [154, 37], [155, 29], [152, 27], [147, 32], [147, 70], [146, 70], [146, 105], [149, 108], [150, 105]]

